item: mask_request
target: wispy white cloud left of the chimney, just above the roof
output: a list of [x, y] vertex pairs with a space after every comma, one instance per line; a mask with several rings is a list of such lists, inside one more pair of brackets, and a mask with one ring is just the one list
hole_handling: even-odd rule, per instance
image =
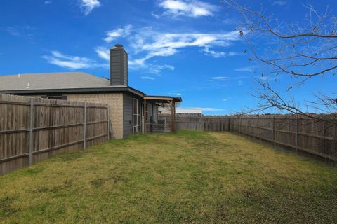
[[52, 51], [51, 55], [44, 55], [46, 62], [66, 69], [88, 69], [94, 67], [107, 67], [107, 64], [98, 64], [86, 57], [67, 56], [58, 51]]

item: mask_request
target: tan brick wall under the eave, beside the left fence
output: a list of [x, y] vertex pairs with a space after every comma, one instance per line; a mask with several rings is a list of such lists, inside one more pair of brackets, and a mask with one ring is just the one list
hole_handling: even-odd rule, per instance
[[71, 101], [84, 101], [109, 104], [112, 138], [123, 138], [123, 94], [99, 93], [99, 94], [67, 94]]

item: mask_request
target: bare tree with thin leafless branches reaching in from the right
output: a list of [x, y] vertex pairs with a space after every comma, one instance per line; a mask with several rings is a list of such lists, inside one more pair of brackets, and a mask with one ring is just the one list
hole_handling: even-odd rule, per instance
[[[310, 118], [322, 119], [313, 113], [308, 113], [308, 107], [318, 113], [336, 113], [337, 99], [333, 97], [336, 92], [314, 92], [315, 100], [298, 102], [296, 96], [284, 97], [274, 83], [282, 76], [290, 77], [291, 85], [286, 86], [286, 91], [302, 87], [310, 78], [317, 76], [336, 77], [337, 73], [337, 17], [332, 14], [329, 7], [324, 13], [318, 13], [311, 5], [303, 5], [307, 10], [303, 21], [286, 23], [267, 15], [261, 8], [251, 10], [239, 1], [225, 0], [223, 4], [228, 10], [234, 9], [242, 15], [238, 25], [240, 36], [249, 45], [252, 57], [263, 66], [263, 73], [256, 78], [258, 90], [253, 93], [260, 99], [256, 109], [246, 112], [262, 112], [267, 109], [278, 109], [288, 113], [296, 113]], [[258, 49], [256, 40], [265, 41], [264, 50]]]

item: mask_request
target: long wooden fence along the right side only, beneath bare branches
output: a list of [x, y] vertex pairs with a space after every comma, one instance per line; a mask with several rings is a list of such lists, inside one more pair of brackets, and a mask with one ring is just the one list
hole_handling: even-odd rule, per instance
[[337, 162], [335, 123], [289, 115], [238, 116], [230, 117], [230, 131]]

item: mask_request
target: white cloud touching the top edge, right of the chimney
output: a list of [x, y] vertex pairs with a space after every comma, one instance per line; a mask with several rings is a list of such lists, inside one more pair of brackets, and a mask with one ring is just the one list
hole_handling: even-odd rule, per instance
[[164, 9], [163, 15], [178, 17], [180, 15], [187, 17], [213, 16], [218, 10], [218, 6], [197, 0], [162, 0], [158, 5]]

